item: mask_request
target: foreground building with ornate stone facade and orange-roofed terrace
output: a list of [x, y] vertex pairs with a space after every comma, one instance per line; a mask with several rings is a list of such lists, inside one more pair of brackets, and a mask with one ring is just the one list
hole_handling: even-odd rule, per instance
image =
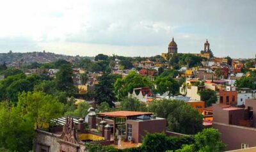
[[115, 111], [96, 114], [92, 107], [89, 110], [84, 119], [52, 119], [56, 126], [47, 131], [36, 130], [36, 151], [83, 152], [87, 151], [86, 143], [124, 149], [140, 146], [147, 132], [181, 135], [167, 132], [166, 119], [157, 118], [152, 112]]

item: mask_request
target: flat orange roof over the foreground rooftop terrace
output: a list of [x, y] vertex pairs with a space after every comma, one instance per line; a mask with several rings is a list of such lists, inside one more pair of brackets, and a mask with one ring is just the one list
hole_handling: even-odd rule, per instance
[[132, 116], [150, 115], [153, 112], [139, 112], [139, 111], [113, 111], [113, 112], [101, 112], [98, 116], [105, 116], [111, 118], [126, 118]]

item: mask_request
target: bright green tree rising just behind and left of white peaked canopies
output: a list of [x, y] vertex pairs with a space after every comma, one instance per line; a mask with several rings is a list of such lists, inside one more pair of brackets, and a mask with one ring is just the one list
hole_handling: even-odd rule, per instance
[[153, 84], [148, 79], [148, 77], [143, 77], [140, 74], [132, 71], [129, 72], [123, 79], [116, 79], [115, 82], [115, 94], [118, 96], [118, 99], [122, 99], [132, 93], [133, 89], [136, 87], [150, 87], [152, 88]]

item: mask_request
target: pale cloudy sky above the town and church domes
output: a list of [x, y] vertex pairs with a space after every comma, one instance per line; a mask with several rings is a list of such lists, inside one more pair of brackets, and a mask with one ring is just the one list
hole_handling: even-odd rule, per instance
[[255, 0], [0, 0], [0, 53], [255, 57]]

